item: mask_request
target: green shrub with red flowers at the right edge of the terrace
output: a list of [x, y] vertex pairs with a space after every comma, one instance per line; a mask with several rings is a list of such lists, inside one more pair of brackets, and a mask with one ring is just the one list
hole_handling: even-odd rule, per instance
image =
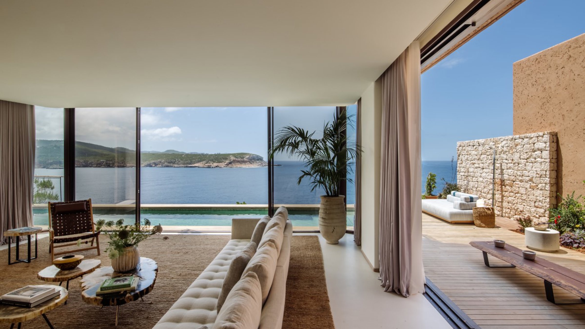
[[566, 231], [573, 232], [575, 229], [583, 227], [585, 224], [585, 205], [581, 204], [585, 201], [583, 196], [575, 197], [575, 192], [567, 194], [562, 202], [556, 208], [549, 209], [550, 213], [550, 227], [556, 229], [563, 234]]

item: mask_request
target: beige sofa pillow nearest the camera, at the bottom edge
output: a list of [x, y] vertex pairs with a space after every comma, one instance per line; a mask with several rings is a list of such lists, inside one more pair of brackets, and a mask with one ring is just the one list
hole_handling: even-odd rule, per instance
[[228, 294], [213, 329], [257, 329], [262, 314], [262, 289], [256, 273], [246, 273]]

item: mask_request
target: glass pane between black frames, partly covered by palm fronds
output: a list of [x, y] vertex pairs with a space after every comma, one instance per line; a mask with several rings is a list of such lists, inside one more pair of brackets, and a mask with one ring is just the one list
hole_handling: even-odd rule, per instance
[[[323, 136], [326, 122], [331, 122], [335, 107], [275, 107], [274, 140], [285, 126], [295, 126], [305, 131], [315, 132], [313, 138]], [[297, 184], [305, 169], [302, 159], [280, 153], [274, 156], [274, 205], [286, 205], [294, 227], [318, 227], [320, 196], [322, 189], [311, 191], [310, 179], [305, 177]]]

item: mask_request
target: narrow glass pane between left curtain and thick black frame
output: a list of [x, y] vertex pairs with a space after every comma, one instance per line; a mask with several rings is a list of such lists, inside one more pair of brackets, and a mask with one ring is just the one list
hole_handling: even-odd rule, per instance
[[63, 201], [63, 108], [35, 107], [33, 224], [49, 225], [47, 202]]

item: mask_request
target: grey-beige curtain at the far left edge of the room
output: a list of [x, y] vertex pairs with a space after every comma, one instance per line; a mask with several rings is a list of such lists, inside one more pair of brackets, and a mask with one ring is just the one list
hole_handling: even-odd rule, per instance
[[0, 244], [7, 229], [33, 224], [35, 107], [0, 101]]

